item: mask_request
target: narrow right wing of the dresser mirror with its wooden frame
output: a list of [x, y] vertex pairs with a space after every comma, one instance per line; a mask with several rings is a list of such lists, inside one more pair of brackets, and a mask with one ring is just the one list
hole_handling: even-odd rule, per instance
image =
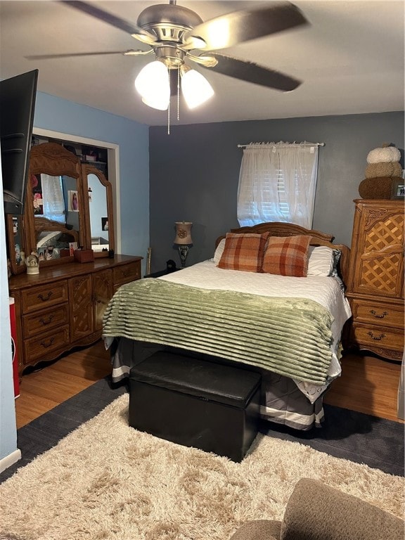
[[89, 203], [86, 238], [91, 238], [94, 257], [108, 257], [114, 251], [113, 189], [103, 172], [94, 165], [82, 165], [84, 193]]

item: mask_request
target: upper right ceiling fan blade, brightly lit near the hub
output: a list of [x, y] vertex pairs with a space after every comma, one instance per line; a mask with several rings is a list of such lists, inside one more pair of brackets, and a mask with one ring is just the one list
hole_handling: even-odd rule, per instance
[[265, 8], [246, 11], [234, 11], [197, 25], [185, 34], [184, 44], [191, 49], [195, 41], [195, 49], [202, 49], [200, 41], [203, 39], [204, 49], [226, 49], [289, 28], [308, 24], [300, 9], [289, 2], [274, 2]]

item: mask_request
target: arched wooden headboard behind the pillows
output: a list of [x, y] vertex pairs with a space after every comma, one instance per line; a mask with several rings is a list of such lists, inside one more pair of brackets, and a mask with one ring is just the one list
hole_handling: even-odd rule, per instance
[[[338, 270], [343, 283], [347, 284], [349, 278], [349, 256], [350, 250], [347, 245], [333, 244], [334, 236], [332, 234], [321, 233], [321, 231], [315, 231], [314, 229], [305, 229], [300, 225], [293, 223], [282, 223], [281, 221], [270, 221], [269, 223], [259, 223], [248, 227], [240, 227], [239, 229], [231, 229], [231, 233], [270, 233], [270, 236], [297, 236], [304, 234], [311, 236], [310, 245], [326, 245], [328, 248], [340, 250], [342, 255], [340, 256]], [[215, 242], [215, 247], [219, 242], [225, 238], [225, 236], [219, 236]]]

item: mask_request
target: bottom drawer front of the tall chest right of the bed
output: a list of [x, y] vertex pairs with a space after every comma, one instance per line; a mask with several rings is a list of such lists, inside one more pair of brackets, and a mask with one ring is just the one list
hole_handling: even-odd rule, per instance
[[362, 345], [370, 350], [391, 349], [393, 351], [404, 350], [404, 330], [373, 326], [362, 323], [353, 323], [352, 339], [356, 345]]

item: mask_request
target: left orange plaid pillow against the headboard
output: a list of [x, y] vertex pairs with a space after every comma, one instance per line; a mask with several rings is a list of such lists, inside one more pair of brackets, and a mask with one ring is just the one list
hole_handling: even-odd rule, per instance
[[227, 233], [219, 268], [245, 272], [261, 271], [267, 236], [269, 233]]

